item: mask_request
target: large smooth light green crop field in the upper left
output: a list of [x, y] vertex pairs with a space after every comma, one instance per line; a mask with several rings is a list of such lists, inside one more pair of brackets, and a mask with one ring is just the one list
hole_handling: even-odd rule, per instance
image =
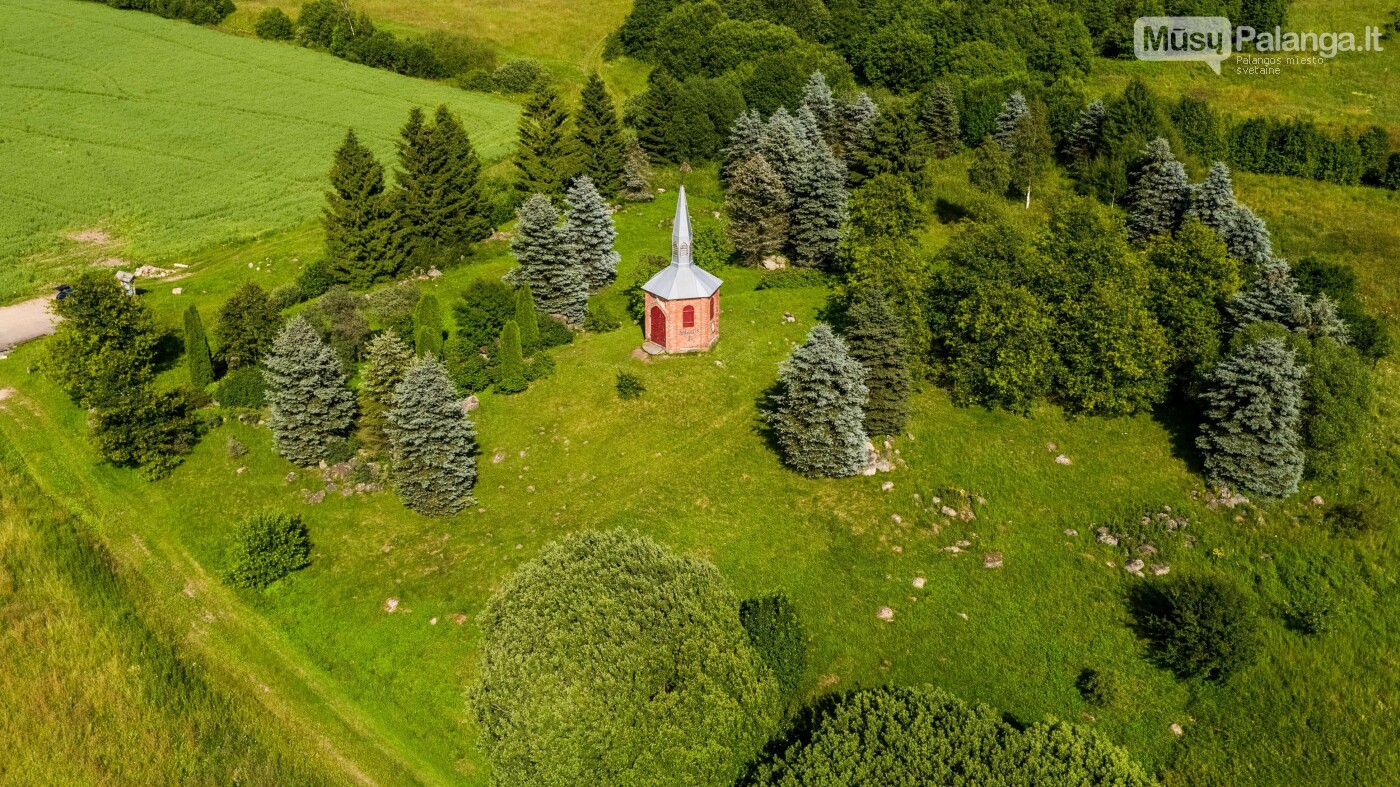
[[[297, 46], [78, 0], [0, 0], [0, 302], [83, 260], [169, 262], [307, 221], [346, 129], [392, 162], [410, 106], [479, 153], [518, 108]], [[102, 244], [66, 237], [99, 228]]]

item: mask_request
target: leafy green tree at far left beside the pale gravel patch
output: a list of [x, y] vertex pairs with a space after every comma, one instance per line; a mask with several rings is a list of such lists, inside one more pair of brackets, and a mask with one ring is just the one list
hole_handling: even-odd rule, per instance
[[126, 295], [111, 270], [85, 270], [62, 301], [45, 342], [43, 371], [83, 408], [101, 408], [155, 375], [161, 332], [151, 309]]

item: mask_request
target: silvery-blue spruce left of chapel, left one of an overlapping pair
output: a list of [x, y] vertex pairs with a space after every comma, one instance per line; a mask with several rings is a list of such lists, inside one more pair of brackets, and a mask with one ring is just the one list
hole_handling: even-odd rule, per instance
[[582, 322], [588, 312], [588, 280], [577, 255], [570, 248], [559, 210], [545, 195], [525, 200], [517, 213], [519, 221], [511, 251], [519, 267], [508, 277], [515, 284], [529, 284], [535, 302], [545, 314], [563, 315], [568, 322]]

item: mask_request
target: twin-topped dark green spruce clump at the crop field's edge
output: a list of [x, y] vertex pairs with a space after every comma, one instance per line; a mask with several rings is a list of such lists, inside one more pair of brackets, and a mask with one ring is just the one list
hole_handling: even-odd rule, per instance
[[482, 162], [461, 120], [438, 106], [431, 125], [414, 106], [399, 140], [395, 193], [403, 242], [417, 265], [461, 260], [491, 234]]

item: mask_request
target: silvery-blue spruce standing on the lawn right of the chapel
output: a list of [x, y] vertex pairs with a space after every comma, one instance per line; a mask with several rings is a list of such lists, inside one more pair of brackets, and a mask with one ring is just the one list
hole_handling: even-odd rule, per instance
[[806, 476], [846, 478], [865, 466], [865, 370], [819, 323], [778, 371], [767, 423], [783, 462]]

